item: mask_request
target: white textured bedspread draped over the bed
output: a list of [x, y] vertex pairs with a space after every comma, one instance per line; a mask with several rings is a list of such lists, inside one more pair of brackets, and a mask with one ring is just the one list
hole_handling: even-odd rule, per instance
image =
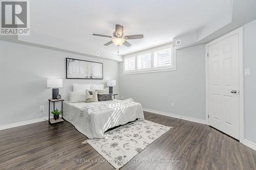
[[63, 103], [63, 117], [88, 138], [104, 138], [104, 132], [136, 118], [144, 119], [141, 104], [132, 100]]

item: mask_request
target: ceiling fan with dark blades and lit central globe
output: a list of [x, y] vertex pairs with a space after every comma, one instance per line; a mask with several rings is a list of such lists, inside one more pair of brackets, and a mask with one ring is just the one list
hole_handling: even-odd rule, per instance
[[129, 42], [127, 42], [127, 39], [140, 39], [143, 38], [143, 34], [139, 34], [139, 35], [127, 35], [124, 36], [123, 35], [123, 26], [121, 25], [116, 25], [116, 30], [113, 32], [113, 36], [109, 36], [109, 35], [102, 35], [102, 34], [93, 34], [94, 36], [100, 36], [100, 37], [108, 37], [108, 38], [112, 38], [111, 41], [105, 43], [104, 45], [110, 45], [112, 43], [114, 43], [117, 46], [120, 45], [125, 45], [127, 47], [132, 46], [132, 44], [130, 44]]

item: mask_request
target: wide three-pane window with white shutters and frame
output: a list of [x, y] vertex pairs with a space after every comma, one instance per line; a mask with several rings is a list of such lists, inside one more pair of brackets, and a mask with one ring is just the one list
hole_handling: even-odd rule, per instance
[[123, 74], [176, 70], [172, 48], [148, 50], [133, 56], [124, 56]]

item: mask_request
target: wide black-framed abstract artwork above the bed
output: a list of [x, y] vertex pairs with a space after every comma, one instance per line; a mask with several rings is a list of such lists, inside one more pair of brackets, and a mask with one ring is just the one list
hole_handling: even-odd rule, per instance
[[103, 79], [103, 63], [66, 58], [67, 79]]

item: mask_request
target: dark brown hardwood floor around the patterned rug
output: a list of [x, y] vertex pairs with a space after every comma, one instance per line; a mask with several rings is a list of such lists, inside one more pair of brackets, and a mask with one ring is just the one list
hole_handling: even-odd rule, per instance
[[[145, 118], [174, 128], [121, 169], [256, 169], [256, 151], [214, 128], [148, 112]], [[115, 169], [95, 162], [104, 158], [81, 144], [85, 139], [68, 122], [2, 130], [0, 169]], [[147, 162], [152, 159], [161, 163]]]

